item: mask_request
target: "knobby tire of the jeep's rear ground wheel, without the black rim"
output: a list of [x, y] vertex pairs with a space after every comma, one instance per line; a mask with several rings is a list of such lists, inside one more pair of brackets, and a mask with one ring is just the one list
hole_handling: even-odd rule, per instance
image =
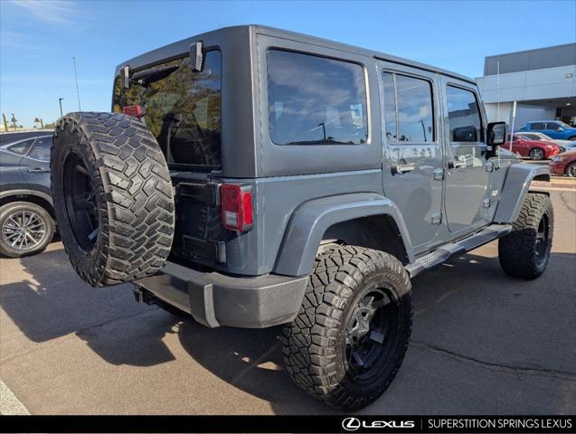
[[[346, 370], [346, 322], [366, 288], [385, 284], [400, 302], [401, 321], [392, 330], [393, 351], [377, 379], [357, 383]], [[284, 326], [284, 362], [297, 385], [339, 410], [356, 410], [376, 400], [398, 372], [412, 325], [411, 281], [401, 262], [387, 253], [354, 246], [316, 259], [297, 317]]]

